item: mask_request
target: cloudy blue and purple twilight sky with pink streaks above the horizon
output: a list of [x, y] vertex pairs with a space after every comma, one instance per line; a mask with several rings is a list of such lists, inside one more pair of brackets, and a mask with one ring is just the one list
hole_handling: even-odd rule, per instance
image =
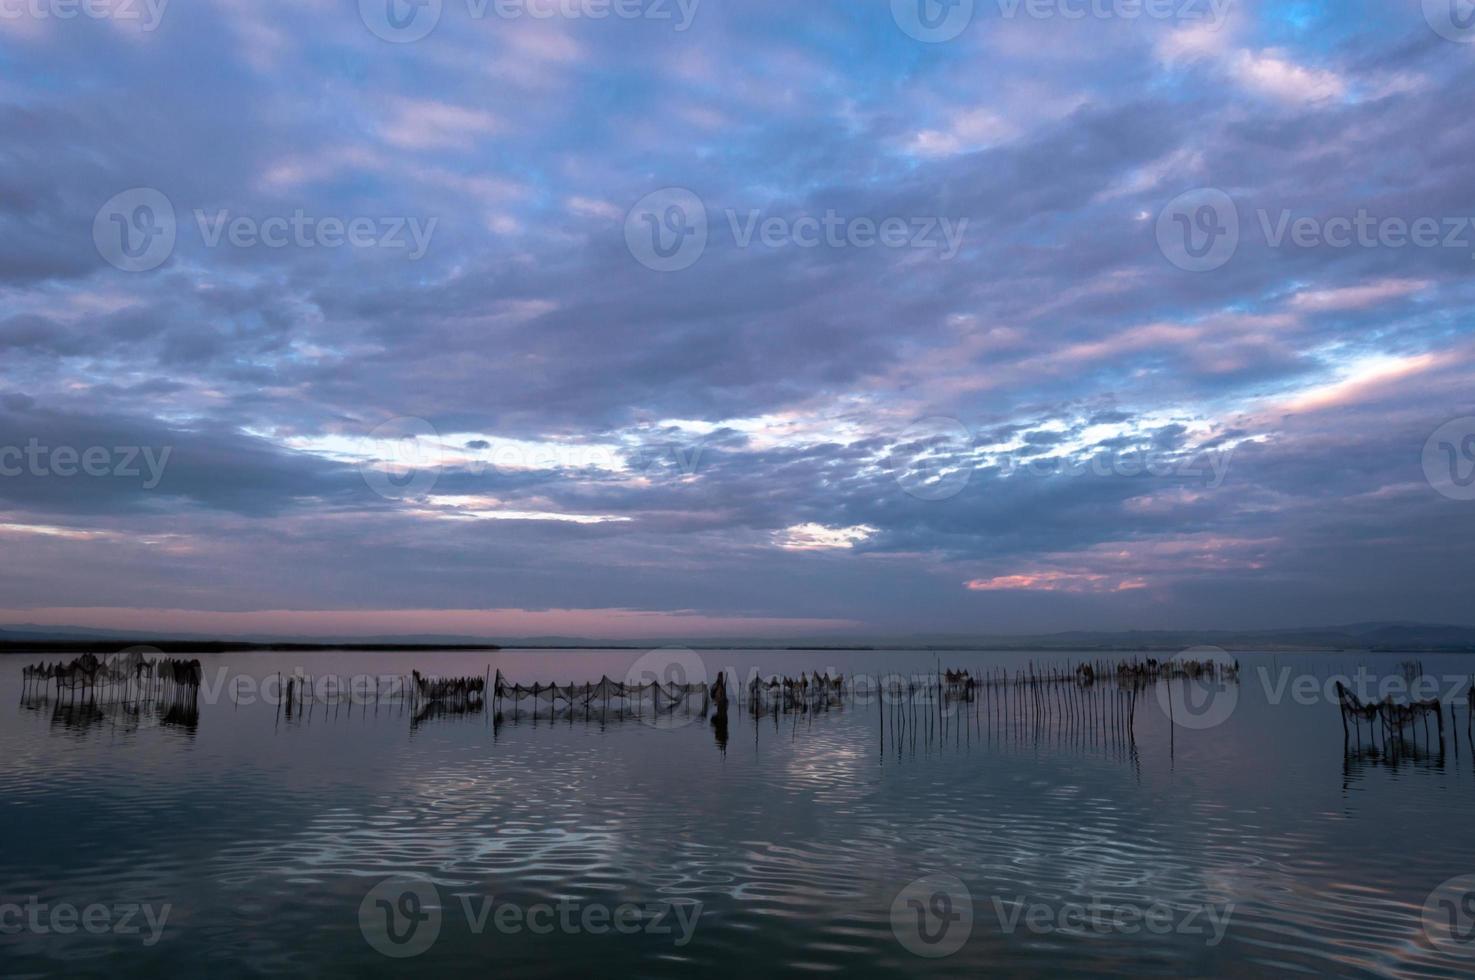
[[1466, 0], [0, 0], [0, 623], [1475, 623]]

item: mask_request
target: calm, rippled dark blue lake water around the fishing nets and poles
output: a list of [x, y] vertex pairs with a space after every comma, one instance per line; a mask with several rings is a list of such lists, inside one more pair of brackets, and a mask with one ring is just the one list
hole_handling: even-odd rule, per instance
[[[1416, 657], [1459, 704], [1443, 751], [1420, 729], [1397, 759], [1345, 748], [1326, 691], [1360, 666], [1386, 683], [1398, 655], [1236, 654], [1239, 683], [1212, 704], [1155, 685], [1125, 735], [1059, 701], [1038, 725], [1000, 700], [847, 698], [758, 719], [735, 705], [723, 728], [699, 698], [640, 717], [531, 701], [416, 717], [348, 700], [288, 716], [271, 691], [279, 672], [412, 667], [584, 683], [640, 657], [201, 657], [198, 716], [28, 701], [35, 658], [3, 658], [0, 973], [1475, 970], [1475, 893], [1457, 881], [1475, 874], [1475, 745], [1454, 688], [1475, 658]], [[699, 660], [742, 677], [1077, 658]], [[1454, 909], [1443, 934], [1426, 905]]]

